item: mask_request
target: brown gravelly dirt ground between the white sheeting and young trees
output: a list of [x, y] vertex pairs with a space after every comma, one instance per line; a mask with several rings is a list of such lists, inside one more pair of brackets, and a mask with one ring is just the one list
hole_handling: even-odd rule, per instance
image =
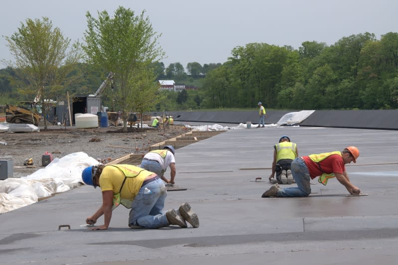
[[[47, 151], [53, 158], [61, 158], [74, 152], [85, 152], [89, 156], [107, 162], [130, 153], [144, 154], [147, 147], [187, 133], [182, 126], [168, 129], [123, 127], [76, 129], [51, 126], [47, 131], [31, 133], [0, 133], [0, 160], [12, 159], [13, 177], [27, 176], [43, 168], [42, 155]], [[6, 143], [6, 144], [4, 144]], [[25, 166], [32, 158], [33, 166]]]

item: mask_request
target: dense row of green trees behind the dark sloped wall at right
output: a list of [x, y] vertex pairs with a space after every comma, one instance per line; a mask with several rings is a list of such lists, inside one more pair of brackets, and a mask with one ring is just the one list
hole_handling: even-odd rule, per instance
[[204, 80], [203, 106], [293, 110], [397, 109], [398, 33], [335, 44], [305, 41], [298, 50], [249, 43], [232, 50]]

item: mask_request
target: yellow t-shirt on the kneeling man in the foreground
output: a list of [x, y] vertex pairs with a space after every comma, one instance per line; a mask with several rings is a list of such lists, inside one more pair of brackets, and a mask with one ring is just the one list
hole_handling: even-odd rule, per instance
[[[127, 177], [120, 193], [121, 199], [133, 200], [142, 186], [144, 179], [152, 175], [153, 172], [147, 171], [133, 165], [123, 165], [131, 168], [132, 171], [139, 172], [136, 177]], [[120, 187], [125, 180], [125, 174], [116, 166], [105, 166], [100, 175], [100, 187], [102, 191], [112, 190], [114, 194], [119, 193]]]

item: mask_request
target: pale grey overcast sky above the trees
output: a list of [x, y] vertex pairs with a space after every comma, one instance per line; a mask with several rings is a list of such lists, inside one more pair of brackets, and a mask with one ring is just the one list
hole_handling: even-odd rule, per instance
[[[3, 36], [26, 18], [48, 17], [64, 36], [83, 40], [86, 12], [118, 6], [145, 9], [167, 67], [180, 62], [224, 63], [236, 46], [263, 42], [295, 49], [303, 41], [334, 44], [342, 37], [398, 32], [397, 0], [7, 0], [0, 2], [0, 59], [12, 60]], [[0, 64], [0, 68], [4, 68]]]

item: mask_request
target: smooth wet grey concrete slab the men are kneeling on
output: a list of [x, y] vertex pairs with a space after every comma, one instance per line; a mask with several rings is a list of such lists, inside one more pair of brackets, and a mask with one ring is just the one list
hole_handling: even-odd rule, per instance
[[[256, 168], [271, 166], [284, 134], [299, 155], [357, 146], [347, 171], [369, 196], [347, 197], [336, 179], [327, 186], [315, 179], [309, 197], [261, 198], [271, 170]], [[0, 215], [1, 264], [397, 264], [397, 138], [310, 127], [220, 133], [176, 150], [176, 185], [188, 189], [168, 192], [165, 210], [189, 202], [199, 228], [132, 230], [120, 206], [111, 229], [89, 231], [80, 225], [100, 207], [101, 192], [82, 186]]]

